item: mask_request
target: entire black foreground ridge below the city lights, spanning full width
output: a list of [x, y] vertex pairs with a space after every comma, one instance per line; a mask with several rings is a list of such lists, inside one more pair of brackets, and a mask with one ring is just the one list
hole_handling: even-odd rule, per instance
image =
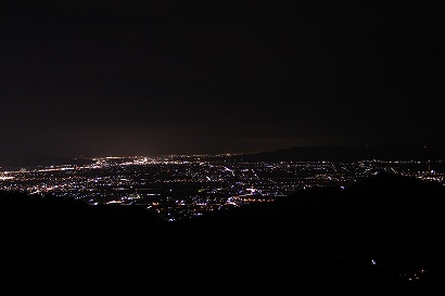
[[[380, 173], [180, 222], [137, 206], [0, 193], [15, 294], [428, 295], [442, 291], [445, 189]], [[115, 295], [115, 294], [114, 294]]]

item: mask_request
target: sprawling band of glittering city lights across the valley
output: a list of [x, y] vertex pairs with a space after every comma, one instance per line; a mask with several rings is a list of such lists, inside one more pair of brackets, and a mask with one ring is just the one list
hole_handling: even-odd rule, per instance
[[379, 171], [445, 180], [430, 162], [241, 162], [229, 156], [107, 156], [89, 165], [26, 167], [0, 171], [0, 190], [69, 196], [90, 205], [139, 205], [177, 221], [309, 188], [345, 189]]

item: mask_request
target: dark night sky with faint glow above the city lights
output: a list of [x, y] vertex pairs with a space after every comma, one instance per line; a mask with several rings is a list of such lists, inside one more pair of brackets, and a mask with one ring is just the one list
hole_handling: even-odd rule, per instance
[[445, 146], [444, 4], [326, 2], [1, 1], [0, 155]]

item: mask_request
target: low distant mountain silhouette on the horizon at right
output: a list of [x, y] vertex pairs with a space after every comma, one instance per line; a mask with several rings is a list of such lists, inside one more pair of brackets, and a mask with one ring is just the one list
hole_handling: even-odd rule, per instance
[[356, 162], [366, 159], [380, 160], [443, 160], [445, 149], [442, 147], [398, 147], [374, 146], [367, 149], [330, 147], [330, 146], [295, 146], [269, 152], [241, 154], [232, 156], [234, 159], [246, 162]]

